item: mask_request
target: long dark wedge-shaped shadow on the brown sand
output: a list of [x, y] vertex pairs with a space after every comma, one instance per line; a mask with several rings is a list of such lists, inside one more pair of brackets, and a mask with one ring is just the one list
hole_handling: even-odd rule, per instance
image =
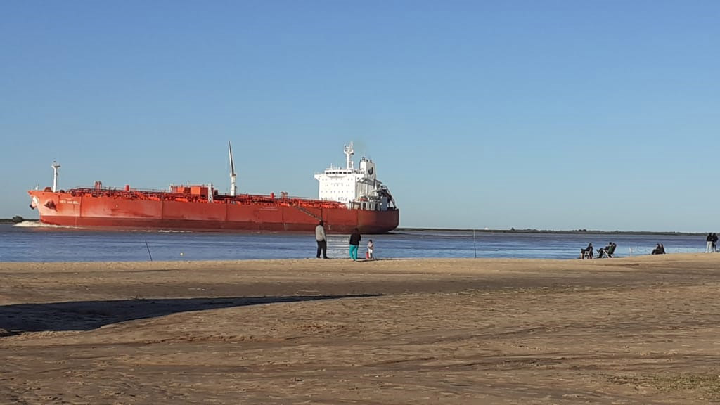
[[[89, 331], [100, 326], [171, 313], [267, 303], [373, 297], [377, 294], [292, 295], [285, 297], [169, 298], [117, 301], [24, 303], [0, 306], [0, 336], [34, 331]], [[4, 330], [3, 330], [4, 329]]]

